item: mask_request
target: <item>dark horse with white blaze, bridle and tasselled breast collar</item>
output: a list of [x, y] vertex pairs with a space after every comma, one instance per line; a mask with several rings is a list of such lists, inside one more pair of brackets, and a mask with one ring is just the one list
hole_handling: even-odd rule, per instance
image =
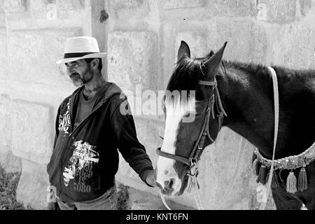
[[[195, 175], [192, 167], [223, 126], [257, 148], [253, 163], [259, 167], [253, 169], [258, 177], [259, 171], [266, 169], [266, 161], [272, 160], [275, 113], [271, 70], [262, 64], [224, 60], [226, 45], [206, 57], [191, 58], [188, 44], [181, 41], [178, 62], [167, 85], [171, 94], [165, 94], [164, 99], [165, 137], [157, 150], [156, 183], [163, 195], [183, 194], [189, 177]], [[279, 88], [272, 197], [276, 209], [315, 209], [315, 71], [283, 66], [272, 69]], [[176, 91], [186, 92], [186, 97], [172, 94]], [[259, 157], [257, 163], [255, 158]], [[294, 163], [291, 158], [303, 164], [289, 166]], [[298, 174], [304, 188], [288, 190], [286, 177], [290, 186], [296, 187]]]

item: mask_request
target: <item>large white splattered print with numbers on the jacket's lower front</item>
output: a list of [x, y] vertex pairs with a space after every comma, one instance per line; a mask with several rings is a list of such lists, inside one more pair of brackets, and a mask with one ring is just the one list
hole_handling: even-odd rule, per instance
[[64, 185], [67, 187], [69, 181], [78, 176], [78, 182], [73, 183], [73, 190], [90, 193], [91, 186], [85, 185], [85, 181], [92, 178], [92, 168], [94, 164], [99, 162], [99, 153], [93, 150], [96, 146], [91, 146], [86, 142], [83, 143], [83, 141], [76, 141], [73, 146], [76, 148], [69, 159], [68, 165], [64, 167]]

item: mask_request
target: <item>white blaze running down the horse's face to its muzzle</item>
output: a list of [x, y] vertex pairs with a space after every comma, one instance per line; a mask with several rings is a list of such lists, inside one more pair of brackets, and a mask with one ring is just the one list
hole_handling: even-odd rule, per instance
[[[195, 115], [195, 97], [192, 97], [186, 101], [186, 103], [180, 102], [177, 98], [174, 101], [166, 99], [166, 121], [165, 121], [165, 137], [161, 147], [161, 151], [175, 155], [175, 144], [177, 141], [177, 134], [179, 125], [187, 113]], [[176, 195], [181, 189], [181, 179], [174, 169], [175, 160], [159, 156], [157, 162], [157, 182], [160, 183], [162, 188], [165, 188], [165, 181], [172, 180], [172, 195]]]

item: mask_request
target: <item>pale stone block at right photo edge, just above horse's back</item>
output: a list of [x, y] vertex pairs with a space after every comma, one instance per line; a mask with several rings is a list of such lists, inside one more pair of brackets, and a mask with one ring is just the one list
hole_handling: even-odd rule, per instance
[[274, 26], [273, 64], [292, 69], [315, 69], [315, 27], [298, 25]]

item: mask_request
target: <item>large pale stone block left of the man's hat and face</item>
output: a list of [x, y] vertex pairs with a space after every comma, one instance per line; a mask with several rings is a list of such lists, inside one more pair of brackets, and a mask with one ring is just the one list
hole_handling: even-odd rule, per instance
[[22, 83], [69, 85], [71, 81], [60, 74], [56, 62], [63, 58], [66, 38], [80, 34], [81, 29], [74, 28], [10, 32], [10, 78]]

